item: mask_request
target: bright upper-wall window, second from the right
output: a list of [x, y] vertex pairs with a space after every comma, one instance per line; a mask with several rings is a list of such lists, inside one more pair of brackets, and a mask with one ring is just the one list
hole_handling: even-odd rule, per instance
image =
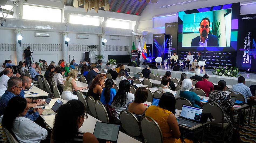
[[69, 23], [100, 26], [103, 17], [70, 14]]

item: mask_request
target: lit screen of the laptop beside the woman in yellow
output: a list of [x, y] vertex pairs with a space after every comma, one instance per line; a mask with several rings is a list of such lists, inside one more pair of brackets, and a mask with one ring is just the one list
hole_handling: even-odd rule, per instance
[[203, 109], [182, 105], [180, 118], [198, 122], [200, 121]]

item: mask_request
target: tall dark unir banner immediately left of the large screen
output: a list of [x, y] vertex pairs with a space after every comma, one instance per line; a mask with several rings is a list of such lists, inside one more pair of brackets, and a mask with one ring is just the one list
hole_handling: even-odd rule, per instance
[[169, 39], [164, 57], [165, 59], [170, 59], [172, 53], [177, 52], [178, 22], [165, 23], [165, 34], [169, 35]]

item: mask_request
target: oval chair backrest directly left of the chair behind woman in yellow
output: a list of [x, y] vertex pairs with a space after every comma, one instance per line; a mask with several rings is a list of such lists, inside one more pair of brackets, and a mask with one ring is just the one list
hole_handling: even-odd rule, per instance
[[[123, 110], [119, 115], [121, 125], [123, 129], [132, 136], [140, 136], [141, 130], [138, 119], [132, 114], [132, 112]], [[131, 126], [132, 125], [132, 126]]]

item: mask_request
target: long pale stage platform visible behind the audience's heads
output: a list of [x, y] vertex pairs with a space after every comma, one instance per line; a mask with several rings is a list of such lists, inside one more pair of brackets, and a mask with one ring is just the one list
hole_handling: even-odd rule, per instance
[[[141, 72], [142, 69], [145, 68], [146, 65], [140, 65], [140, 67], [133, 67], [133, 66], [127, 66], [128, 63], [121, 63], [125, 66], [126, 68], [130, 69], [131, 73], [130, 75], [133, 76], [134, 74]], [[105, 67], [106, 63], [102, 63], [102, 67]], [[115, 65], [117, 66], [117, 65]], [[190, 78], [192, 76], [195, 75], [194, 71], [189, 71], [189, 70], [183, 70], [183, 71], [173, 71], [172, 69], [163, 69], [163, 65], [162, 65], [162, 69], [160, 69], [160, 65], [157, 65], [157, 67], [159, 69], [150, 69], [151, 73], [153, 74], [159, 74], [160, 77], [162, 77], [163, 75], [165, 75], [165, 72], [167, 70], [171, 71], [171, 77], [175, 77], [175, 78], [181, 78], [181, 74], [182, 73], [186, 73], [187, 77]], [[186, 67], [187, 68], [187, 67]], [[227, 82], [227, 85], [235, 85], [237, 84], [237, 77], [225, 77], [225, 76], [216, 76], [216, 75], [212, 75], [212, 71], [213, 69], [205, 69], [205, 73], [207, 73], [209, 75], [209, 81], [213, 82], [213, 83], [218, 83], [218, 81], [220, 80], [225, 80]], [[202, 68], [200, 70], [200, 74], [199, 76], [203, 76], [205, 73], [202, 73]], [[239, 72], [241, 74], [241, 76], [243, 76], [245, 78], [245, 85], [250, 87], [251, 85], [256, 84], [256, 74], [254, 73], [245, 73], [245, 72]]]

